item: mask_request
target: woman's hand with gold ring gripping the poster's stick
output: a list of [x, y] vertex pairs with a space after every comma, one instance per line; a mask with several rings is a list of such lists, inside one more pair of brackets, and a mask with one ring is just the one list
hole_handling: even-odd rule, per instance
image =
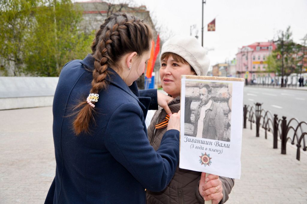
[[[205, 183], [206, 182], [206, 183]], [[223, 198], [223, 186], [220, 177], [202, 172], [198, 191], [204, 200], [212, 200], [212, 204], [218, 204]]]

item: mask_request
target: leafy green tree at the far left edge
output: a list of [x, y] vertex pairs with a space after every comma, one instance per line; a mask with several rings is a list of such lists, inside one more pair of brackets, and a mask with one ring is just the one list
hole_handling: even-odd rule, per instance
[[0, 0], [0, 58], [2, 71], [12, 67], [17, 76], [23, 67], [25, 39], [33, 28], [33, 14], [40, 0]]

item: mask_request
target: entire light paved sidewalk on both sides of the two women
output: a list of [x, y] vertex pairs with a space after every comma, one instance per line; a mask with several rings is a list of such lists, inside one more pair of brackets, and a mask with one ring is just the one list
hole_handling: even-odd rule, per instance
[[[249, 126], [249, 125], [248, 125]], [[55, 173], [52, 107], [0, 111], [0, 204], [44, 203]], [[242, 173], [227, 204], [307, 203], [307, 154], [272, 149], [272, 136], [243, 129]]]

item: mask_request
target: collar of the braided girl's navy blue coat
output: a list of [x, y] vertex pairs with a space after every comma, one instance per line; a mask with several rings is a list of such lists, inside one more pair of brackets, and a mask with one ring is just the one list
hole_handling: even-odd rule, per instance
[[[90, 71], [94, 70], [94, 62], [95, 62], [95, 58], [92, 56], [92, 54], [88, 54], [82, 61], [80, 61], [80, 63], [84, 65]], [[116, 87], [127, 92], [130, 96], [134, 97], [138, 101], [142, 110], [144, 109], [148, 110], [148, 107], [150, 104], [150, 98], [140, 97], [140, 94], [138, 92], [138, 86], [136, 82], [134, 81], [132, 85], [128, 87], [128, 85], [124, 82], [124, 80], [122, 80], [122, 78], [118, 75], [118, 73], [116, 73], [111, 67], [108, 67], [107, 69], [111, 71], [112, 74], [111, 76], [107, 77], [106, 80], [110, 82], [111, 84], [115, 85]]]

